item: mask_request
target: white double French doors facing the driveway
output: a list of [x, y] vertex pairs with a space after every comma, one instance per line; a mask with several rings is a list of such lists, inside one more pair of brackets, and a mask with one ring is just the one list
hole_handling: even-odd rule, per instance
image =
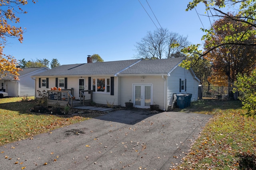
[[152, 104], [152, 89], [152, 84], [134, 84], [134, 107], [150, 108], [150, 105]]

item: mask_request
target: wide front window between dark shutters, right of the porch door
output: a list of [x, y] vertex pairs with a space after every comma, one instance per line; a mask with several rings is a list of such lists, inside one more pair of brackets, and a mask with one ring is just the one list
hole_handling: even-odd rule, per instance
[[93, 78], [92, 79], [93, 92], [110, 92], [110, 78]]

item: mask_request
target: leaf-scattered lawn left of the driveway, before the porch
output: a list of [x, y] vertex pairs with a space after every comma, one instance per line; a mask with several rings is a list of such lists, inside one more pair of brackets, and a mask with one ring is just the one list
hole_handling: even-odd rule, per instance
[[36, 105], [34, 98], [0, 99], [0, 146], [22, 139], [33, 139], [36, 134], [99, 115], [87, 113], [72, 116], [30, 112], [34, 105]]

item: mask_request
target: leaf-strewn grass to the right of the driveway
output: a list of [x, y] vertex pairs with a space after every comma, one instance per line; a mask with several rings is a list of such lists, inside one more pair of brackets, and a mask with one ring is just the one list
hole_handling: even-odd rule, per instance
[[256, 169], [256, 119], [239, 101], [202, 100], [182, 111], [212, 114], [183, 163], [173, 170]]

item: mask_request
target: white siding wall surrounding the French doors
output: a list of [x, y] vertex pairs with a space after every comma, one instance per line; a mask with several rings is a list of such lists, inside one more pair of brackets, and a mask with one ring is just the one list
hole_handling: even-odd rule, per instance
[[[164, 109], [164, 80], [161, 76], [145, 78], [139, 77], [119, 77], [120, 83], [120, 105], [125, 106], [125, 102], [133, 99], [133, 84], [153, 84], [152, 104], [158, 104], [160, 109]], [[134, 102], [134, 101], [132, 101]]]

